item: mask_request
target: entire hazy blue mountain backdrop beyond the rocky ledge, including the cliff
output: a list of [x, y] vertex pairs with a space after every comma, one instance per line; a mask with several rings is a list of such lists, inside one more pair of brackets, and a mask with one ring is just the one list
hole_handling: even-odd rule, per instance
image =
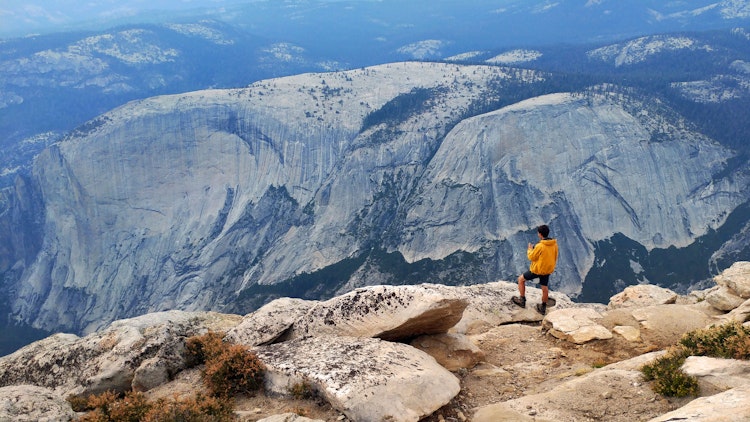
[[750, 255], [750, 5], [622, 3], [257, 1], [4, 40], [3, 319], [512, 279], [542, 222], [582, 300], [708, 279]]

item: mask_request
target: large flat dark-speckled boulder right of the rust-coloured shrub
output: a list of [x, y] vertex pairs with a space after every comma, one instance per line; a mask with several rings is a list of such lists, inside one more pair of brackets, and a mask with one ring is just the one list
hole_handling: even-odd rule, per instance
[[308, 385], [352, 421], [417, 422], [460, 391], [426, 353], [377, 338], [319, 336], [253, 349], [270, 394]]

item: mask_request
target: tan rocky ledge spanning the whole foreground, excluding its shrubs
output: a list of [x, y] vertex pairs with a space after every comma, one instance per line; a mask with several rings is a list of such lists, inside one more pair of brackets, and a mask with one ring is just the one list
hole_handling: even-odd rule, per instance
[[[553, 292], [544, 317], [512, 305], [507, 282], [282, 298], [244, 317], [153, 313], [0, 358], [0, 421], [76, 420], [71, 395], [194, 393], [199, 369], [187, 369], [185, 340], [208, 331], [251, 347], [267, 367], [265, 391], [236, 400], [243, 421], [750, 420], [748, 362], [688, 358], [701, 397], [679, 400], [654, 393], [639, 371], [685, 332], [748, 324], [750, 262], [715, 281], [687, 296], [631, 286], [606, 306]], [[527, 292], [539, 301], [539, 290]], [[318, 399], [290, 399], [301, 383]]]

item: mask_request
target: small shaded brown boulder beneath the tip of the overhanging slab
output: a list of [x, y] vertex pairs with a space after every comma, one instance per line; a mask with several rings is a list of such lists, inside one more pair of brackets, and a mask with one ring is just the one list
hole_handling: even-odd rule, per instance
[[472, 369], [484, 361], [484, 352], [463, 334], [432, 334], [415, 338], [411, 343], [435, 360], [445, 369], [454, 372]]

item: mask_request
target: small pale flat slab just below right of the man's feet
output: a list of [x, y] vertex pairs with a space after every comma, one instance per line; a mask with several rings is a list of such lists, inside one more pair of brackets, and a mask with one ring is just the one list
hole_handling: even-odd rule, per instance
[[575, 344], [592, 340], [611, 339], [612, 333], [597, 320], [603, 316], [590, 308], [570, 308], [549, 312], [542, 321], [542, 327], [549, 334]]

